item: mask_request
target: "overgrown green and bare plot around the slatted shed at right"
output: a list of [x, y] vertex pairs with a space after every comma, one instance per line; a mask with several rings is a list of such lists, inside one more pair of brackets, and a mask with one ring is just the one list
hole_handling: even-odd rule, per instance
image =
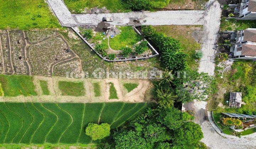
[[[222, 62], [217, 61], [217, 64]], [[255, 115], [255, 103], [254, 98], [256, 94], [255, 90], [255, 61], [234, 61], [231, 70], [225, 72], [223, 75], [219, 72], [221, 67], [216, 68], [216, 76], [218, 82], [218, 93], [208, 101], [208, 109], [214, 110], [213, 118], [220, 128], [224, 128], [223, 132], [226, 134], [233, 134], [231, 128], [225, 129], [222, 125], [221, 118], [223, 117], [221, 112], [238, 113]], [[229, 108], [226, 101], [229, 101], [230, 92], [241, 92], [242, 101], [244, 104], [240, 108]], [[219, 123], [218, 123], [219, 122]], [[256, 129], [248, 129], [242, 132], [242, 135], [256, 132]]]

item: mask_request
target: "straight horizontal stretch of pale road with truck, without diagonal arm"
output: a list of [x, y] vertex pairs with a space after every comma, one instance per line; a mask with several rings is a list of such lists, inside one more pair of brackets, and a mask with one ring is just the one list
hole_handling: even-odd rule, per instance
[[[103, 17], [112, 17], [111, 25], [203, 25], [204, 11], [156, 11], [128, 13], [73, 14], [80, 25], [97, 25]], [[135, 18], [137, 21], [135, 21]]]

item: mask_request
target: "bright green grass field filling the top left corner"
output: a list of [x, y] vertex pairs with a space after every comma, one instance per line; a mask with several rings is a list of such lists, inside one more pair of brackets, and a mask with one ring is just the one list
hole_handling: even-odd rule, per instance
[[60, 28], [44, 0], [0, 0], [0, 29]]

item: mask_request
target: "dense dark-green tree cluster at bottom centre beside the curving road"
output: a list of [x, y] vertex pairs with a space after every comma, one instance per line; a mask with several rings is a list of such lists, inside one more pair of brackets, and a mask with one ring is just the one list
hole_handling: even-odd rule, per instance
[[114, 132], [113, 142], [102, 148], [186, 148], [196, 147], [203, 138], [198, 124], [188, 113], [174, 107], [148, 109], [127, 128]]

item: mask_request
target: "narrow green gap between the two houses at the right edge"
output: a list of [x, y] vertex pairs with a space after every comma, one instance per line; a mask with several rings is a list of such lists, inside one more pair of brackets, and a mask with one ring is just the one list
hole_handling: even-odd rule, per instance
[[220, 23], [220, 31], [238, 31], [244, 30], [247, 28], [256, 28], [256, 22], [250, 20], [235, 20], [228, 19], [226, 20], [224, 17]]

